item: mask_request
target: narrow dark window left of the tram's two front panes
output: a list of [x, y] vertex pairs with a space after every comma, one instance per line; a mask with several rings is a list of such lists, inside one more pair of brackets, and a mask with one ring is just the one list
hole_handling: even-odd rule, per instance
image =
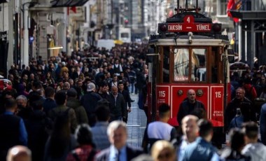
[[169, 83], [169, 46], [164, 47], [163, 57], [162, 80], [163, 83]]

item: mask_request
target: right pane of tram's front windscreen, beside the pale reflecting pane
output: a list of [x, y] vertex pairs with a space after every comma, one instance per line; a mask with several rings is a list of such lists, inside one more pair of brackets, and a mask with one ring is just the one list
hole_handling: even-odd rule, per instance
[[193, 48], [191, 55], [191, 80], [192, 81], [206, 81], [206, 49]]

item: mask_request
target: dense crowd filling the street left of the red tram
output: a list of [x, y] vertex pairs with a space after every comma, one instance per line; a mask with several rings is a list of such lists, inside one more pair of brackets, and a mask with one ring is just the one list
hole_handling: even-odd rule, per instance
[[[48, 60], [32, 58], [22, 69], [11, 66], [0, 85], [0, 160], [10, 158], [13, 148], [31, 151], [23, 156], [32, 160], [93, 160], [99, 151], [116, 147], [113, 132], [118, 130], [120, 137], [123, 127], [126, 134], [123, 123], [134, 102], [130, 94], [141, 93], [146, 85], [146, 50], [140, 43], [110, 51], [90, 47]], [[121, 151], [122, 160], [139, 153]]]

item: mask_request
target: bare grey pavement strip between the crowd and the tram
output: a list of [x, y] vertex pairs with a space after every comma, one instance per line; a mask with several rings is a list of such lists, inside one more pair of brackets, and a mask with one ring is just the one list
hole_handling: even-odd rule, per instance
[[132, 102], [132, 111], [128, 114], [127, 119], [127, 144], [134, 147], [141, 147], [144, 130], [146, 128], [146, 115], [143, 110], [139, 109], [137, 104], [138, 95], [130, 94]]

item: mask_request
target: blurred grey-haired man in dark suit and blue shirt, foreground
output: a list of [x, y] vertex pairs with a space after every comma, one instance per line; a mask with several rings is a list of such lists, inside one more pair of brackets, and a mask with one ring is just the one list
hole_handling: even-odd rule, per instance
[[140, 148], [127, 145], [127, 125], [123, 121], [115, 120], [111, 122], [107, 134], [111, 146], [97, 154], [97, 161], [132, 160], [143, 153]]

